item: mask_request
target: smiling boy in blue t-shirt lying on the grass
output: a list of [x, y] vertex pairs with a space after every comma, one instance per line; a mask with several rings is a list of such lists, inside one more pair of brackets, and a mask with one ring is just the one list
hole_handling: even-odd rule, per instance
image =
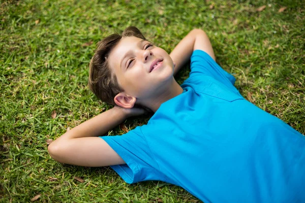
[[[111, 165], [127, 183], [161, 180], [204, 202], [305, 201], [305, 138], [240, 95], [204, 31], [192, 30], [170, 55], [135, 27], [122, 36], [101, 41], [90, 62], [90, 89], [114, 108], [51, 143], [52, 158]], [[173, 75], [190, 57], [179, 86]], [[98, 137], [141, 107], [155, 113], [147, 125]]]

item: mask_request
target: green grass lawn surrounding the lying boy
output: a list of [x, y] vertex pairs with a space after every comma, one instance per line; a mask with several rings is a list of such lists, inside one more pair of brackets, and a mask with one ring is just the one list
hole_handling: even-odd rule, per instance
[[[88, 63], [99, 40], [129, 25], [168, 52], [191, 29], [202, 28], [241, 94], [304, 134], [301, 2], [1, 1], [0, 202], [28, 202], [39, 194], [38, 202], [199, 201], [177, 186], [128, 185], [110, 167], [60, 164], [47, 152], [46, 139], [111, 108], [88, 90]], [[132, 129], [148, 119], [125, 125]], [[109, 132], [122, 133], [119, 127]]]

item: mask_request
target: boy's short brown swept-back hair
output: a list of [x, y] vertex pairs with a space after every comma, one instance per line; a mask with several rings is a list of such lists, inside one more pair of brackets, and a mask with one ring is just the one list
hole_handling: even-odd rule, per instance
[[114, 33], [100, 41], [90, 61], [89, 89], [102, 101], [110, 105], [115, 105], [115, 95], [124, 90], [119, 86], [107, 59], [111, 50], [118, 44], [121, 38], [131, 36], [146, 40], [138, 28], [134, 26], [127, 27], [121, 35]]

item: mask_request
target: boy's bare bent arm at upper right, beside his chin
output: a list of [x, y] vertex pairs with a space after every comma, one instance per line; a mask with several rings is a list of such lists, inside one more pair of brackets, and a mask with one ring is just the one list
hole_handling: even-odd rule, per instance
[[206, 33], [201, 29], [193, 29], [169, 54], [175, 63], [174, 75], [190, 59], [193, 51], [197, 49], [205, 51], [215, 60], [214, 51]]

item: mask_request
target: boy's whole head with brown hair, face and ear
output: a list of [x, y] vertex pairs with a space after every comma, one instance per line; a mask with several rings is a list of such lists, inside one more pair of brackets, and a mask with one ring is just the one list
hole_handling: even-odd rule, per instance
[[132, 108], [156, 99], [172, 76], [168, 53], [147, 41], [136, 27], [128, 27], [122, 35], [113, 34], [98, 43], [88, 85], [102, 101]]

